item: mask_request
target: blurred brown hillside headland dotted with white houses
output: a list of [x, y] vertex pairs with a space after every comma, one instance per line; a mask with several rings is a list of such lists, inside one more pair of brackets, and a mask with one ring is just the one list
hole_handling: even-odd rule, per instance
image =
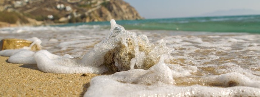
[[2, 0], [0, 27], [75, 22], [137, 20], [139, 13], [123, 0]]

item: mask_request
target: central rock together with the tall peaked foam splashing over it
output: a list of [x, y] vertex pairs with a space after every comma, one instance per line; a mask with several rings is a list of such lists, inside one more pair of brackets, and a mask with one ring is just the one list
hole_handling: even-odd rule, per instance
[[144, 69], [158, 63], [161, 55], [174, 50], [167, 47], [164, 40], [155, 46], [147, 36], [126, 31], [113, 19], [110, 23], [110, 33], [84, 56], [83, 64], [96, 65], [94, 67], [105, 65], [113, 72], [130, 70], [131, 64], [133, 68]]

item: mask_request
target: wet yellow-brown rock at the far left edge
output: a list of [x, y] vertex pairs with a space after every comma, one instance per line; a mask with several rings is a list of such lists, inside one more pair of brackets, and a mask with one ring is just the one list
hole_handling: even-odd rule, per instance
[[[9, 38], [9, 39], [3, 39], [0, 41], [0, 50], [5, 49], [19, 49], [23, 48], [24, 46], [30, 46], [32, 44], [32, 41], [23, 40], [23, 39], [15, 39], [15, 38]], [[33, 45], [31, 50], [41, 50], [41, 47], [37, 45]]]

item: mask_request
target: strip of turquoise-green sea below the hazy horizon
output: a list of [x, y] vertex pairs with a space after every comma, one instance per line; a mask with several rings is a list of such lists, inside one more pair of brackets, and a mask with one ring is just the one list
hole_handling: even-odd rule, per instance
[[[117, 21], [117, 24], [124, 26], [125, 29], [140, 30], [260, 33], [260, 15], [122, 20]], [[58, 26], [79, 25], [102, 25], [105, 28], [110, 28], [109, 21]]]

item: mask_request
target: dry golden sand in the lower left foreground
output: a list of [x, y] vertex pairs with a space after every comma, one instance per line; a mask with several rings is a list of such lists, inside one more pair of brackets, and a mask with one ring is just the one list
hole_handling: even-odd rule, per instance
[[39, 71], [37, 65], [8, 63], [0, 56], [0, 96], [83, 96], [97, 74], [56, 74]]

